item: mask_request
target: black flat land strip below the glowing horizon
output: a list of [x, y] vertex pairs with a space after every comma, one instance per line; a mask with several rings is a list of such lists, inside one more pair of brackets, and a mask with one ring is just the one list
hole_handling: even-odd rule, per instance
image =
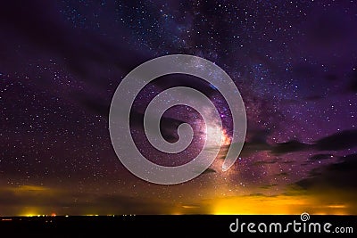
[[[234, 230], [232, 233], [229, 226]], [[285, 233], [284, 229], [289, 222], [299, 223], [301, 231], [296, 233], [293, 226]], [[243, 225], [245, 223], [245, 225]], [[249, 223], [254, 223], [253, 230], [257, 230], [260, 223], [269, 226], [271, 223], [281, 223], [283, 231], [272, 233], [251, 233], [247, 230]], [[321, 229], [325, 223], [331, 223], [330, 233], [323, 231], [312, 232], [314, 236], [355, 237], [357, 233], [357, 216], [311, 216], [306, 222], [302, 222], [300, 216], [203, 216], [203, 215], [177, 215], [177, 216], [99, 216], [99, 217], [0, 217], [0, 237], [131, 237], [143, 234], [145, 237], [211, 237], [220, 234], [220, 237], [302, 237], [309, 232], [303, 232], [303, 223], [306, 227], [310, 223], [320, 223]], [[243, 232], [241, 230], [243, 226]], [[251, 225], [252, 226], [252, 225]], [[344, 234], [336, 234], [336, 226], [352, 227], [345, 230]], [[263, 227], [263, 226], [261, 226]], [[275, 225], [272, 226], [275, 230]], [[140, 236], [138, 236], [140, 237]]]

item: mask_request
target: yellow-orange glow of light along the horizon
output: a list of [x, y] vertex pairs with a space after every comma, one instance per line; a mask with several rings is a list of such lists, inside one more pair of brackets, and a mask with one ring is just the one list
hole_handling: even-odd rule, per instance
[[[29, 190], [30, 189], [30, 190]], [[8, 191], [11, 191], [10, 189]], [[88, 216], [88, 214], [96, 214], [100, 216], [107, 216], [108, 214], [214, 214], [214, 215], [262, 215], [262, 214], [274, 214], [274, 215], [298, 215], [303, 211], [309, 214], [319, 215], [348, 215], [355, 214], [356, 210], [353, 209], [356, 206], [356, 201], [348, 200], [348, 194], [340, 192], [331, 193], [329, 198], [326, 199], [327, 194], [320, 194], [319, 191], [311, 194], [303, 194], [296, 192], [292, 189], [290, 194], [278, 194], [275, 196], [266, 196], [262, 194], [250, 194], [250, 195], [236, 195], [228, 197], [216, 197], [211, 196], [208, 199], [193, 200], [189, 204], [182, 202], [167, 202], [164, 201], [147, 201], [148, 205], [153, 202], [154, 209], [118, 209], [113, 204], [102, 204], [101, 208], [91, 207], [91, 201], [93, 198], [88, 198], [88, 205], [80, 205], [80, 209], [74, 207], [63, 208], [56, 207], [55, 205], [41, 205], [39, 203], [34, 204], [31, 200], [40, 195], [41, 201], [46, 201], [54, 196], [60, 196], [63, 201], [69, 200], [65, 197], [65, 193], [60, 191], [54, 191], [50, 188], [41, 186], [26, 185], [20, 186], [13, 190], [16, 191], [16, 196], [22, 198], [21, 202], [16, 206], [13, 206], [12, 210], [18, 210], [18, 216], [65, 216], [65, 215], [80, 215]], [[3, 191], [4, 193], [4, 191]], [[32, 199], [31, 199], [32, 198]], [[27, 202], [27, 199], [30, 201]], [[20, 201], [20, 200], [19, 200]], [[140, 201], [140, 200], [138, 200]], [[338, 202], [337, 202], [338, 201]], [[140, 201], [142, 202], [142, 201]], [[73, 213], [68, 213], [66, 210], [74, 210]], [[4, 207], [2, 208], [4, 211]], [[0, 216], [9, 216], [9, 214], [2, 213]]]

